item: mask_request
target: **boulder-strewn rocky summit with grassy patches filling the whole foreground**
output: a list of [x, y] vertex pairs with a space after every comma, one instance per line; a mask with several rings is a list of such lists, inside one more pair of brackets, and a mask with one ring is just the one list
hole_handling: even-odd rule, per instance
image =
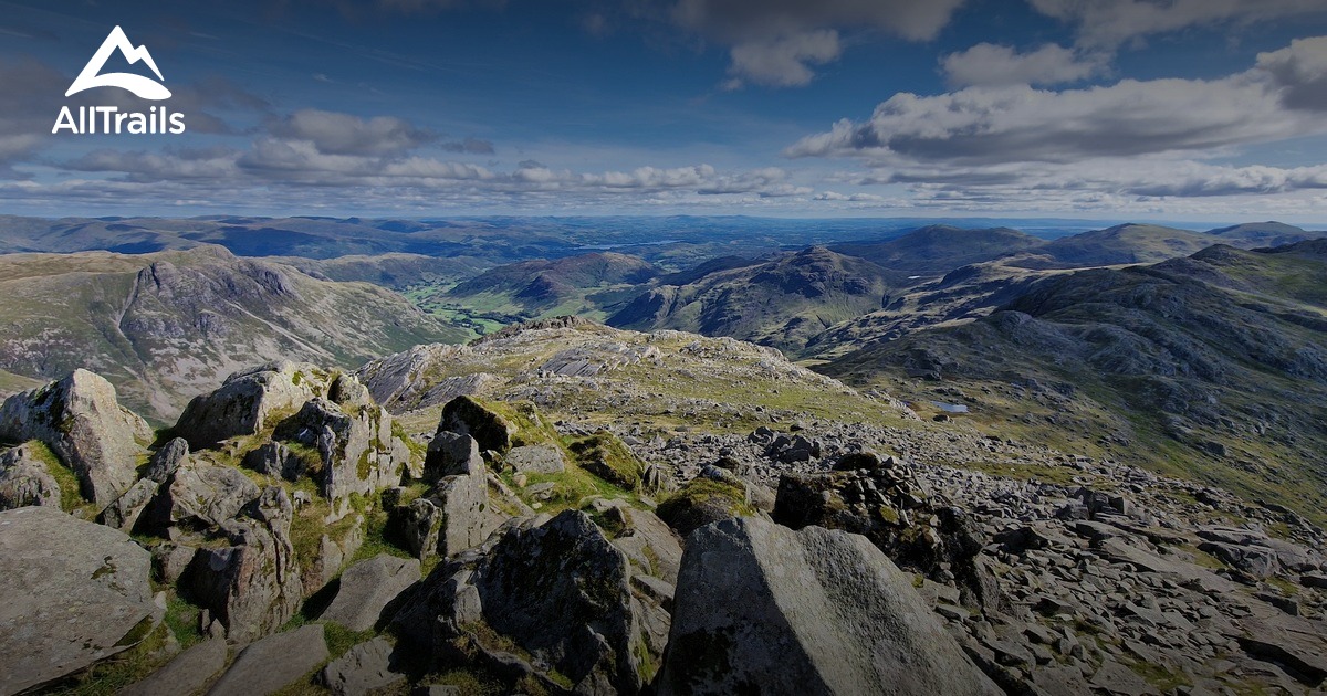
[[[921, 410], [921, 414], [929, 414]], [[0, 693], [1315, 693], [1327, 533], [584, 319], [0, 408]]]

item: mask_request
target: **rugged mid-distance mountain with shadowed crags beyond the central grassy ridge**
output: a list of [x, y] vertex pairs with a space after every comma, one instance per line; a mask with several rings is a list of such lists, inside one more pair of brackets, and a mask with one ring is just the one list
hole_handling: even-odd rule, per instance
[[888, 305], [902, 274], [811, 247], [654, 288], [606, 319], [622, 329], [729, 335], [798, 353], [827, 326]]

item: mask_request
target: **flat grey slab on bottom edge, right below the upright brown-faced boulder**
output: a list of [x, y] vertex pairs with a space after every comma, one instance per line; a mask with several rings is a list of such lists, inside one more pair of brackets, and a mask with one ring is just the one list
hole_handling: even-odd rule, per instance
[[212, 696], [265, 696], [307, 675], [328, 659], [322, 626], [301, 626], [259, 640], [208, 691]]

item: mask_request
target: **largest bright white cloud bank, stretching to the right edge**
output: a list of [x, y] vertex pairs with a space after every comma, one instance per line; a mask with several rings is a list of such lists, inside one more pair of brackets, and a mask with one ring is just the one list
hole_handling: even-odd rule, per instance
[[[1222, 80], [1124, 80], [1115, 85], [1043, 90], [1026, 85], [967, 87], [933, 97], [900, 93], [861, 123], [840, 121], [828, 133], [787, 148], [788, 156], [857, 155], [885, 160], [998, 164], [1071, 163], [1123, 155], [1210, 154], [1327, 130], [1282, 99], [1316, 103], [1322, 76], [1303, 65], [1316, 41], [1291, 53], [1265, 54], [1259, 66]], [[1316, 58], [1314, 58], [1316, 60]], [[1316, 65], [1316, 64], [1311, 64]]]

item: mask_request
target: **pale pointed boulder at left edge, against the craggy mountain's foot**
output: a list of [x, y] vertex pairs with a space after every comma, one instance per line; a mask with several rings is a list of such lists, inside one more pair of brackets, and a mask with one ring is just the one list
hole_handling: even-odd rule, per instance
[[110, 382], [74, 370], [60, 382], [5, 399], [0, 440], [41, 440], [78, 476], [82, 496], [106, 506], [138, 479], [153, 431], [119, 406]]

